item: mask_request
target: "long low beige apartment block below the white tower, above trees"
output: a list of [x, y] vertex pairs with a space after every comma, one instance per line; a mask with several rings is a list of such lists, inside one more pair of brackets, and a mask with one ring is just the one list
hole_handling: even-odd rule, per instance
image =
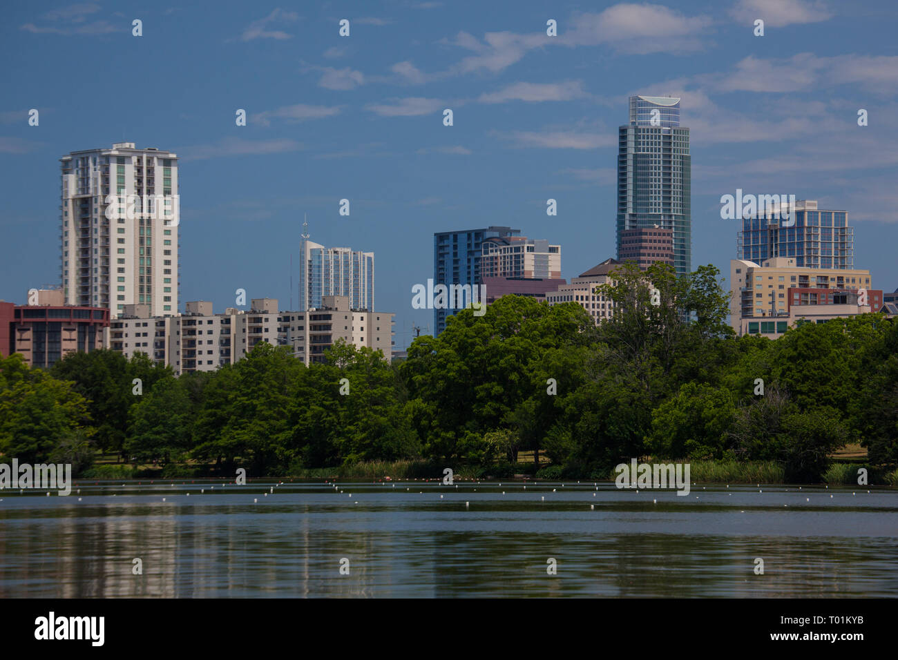
[[128, 305], [110, 322], [103, 345], [126, 357], [143, 352], [175, 374], [215, 371], [233, 365], [260, 341], [288, 346], [306, 365], [324, 361], [324, 351], [339, 339], [392, 355], [392, 313], [349, 309], [347, 296], [324, 296], [310, 312], [278, 312], [277, 299], [255, 298], [250, 310], [233, 307], [213, 313], [212, 303], [187, 303], [183, 314], [150, 316], [147, 305]]

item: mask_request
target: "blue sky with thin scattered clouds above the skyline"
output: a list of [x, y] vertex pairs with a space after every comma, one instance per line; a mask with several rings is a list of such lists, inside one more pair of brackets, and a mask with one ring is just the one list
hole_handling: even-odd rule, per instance
[[411, 288], [433, 277], [435, 232], [515, 227], [559, 243], [568, 280], [616, 256], [617, 129], [633, 94], [682, 98], [692, 268], [728, 275], [738, 227], [720, 198], [743, 189], [848, 211], [855, 267], [872, 288], [898, 286], [894, 0], [13, 0], [0, 12], [2, 300], [58, 284], [58, 159], [134, 142], [180, 157], [180, 311], [211, 300], [224, 312], [238, 288], [295, 308], [307, 214], [314, 242], [374, 251], [374, 306], [395, 314], [404, 348], [413, 324], [432, 330]]

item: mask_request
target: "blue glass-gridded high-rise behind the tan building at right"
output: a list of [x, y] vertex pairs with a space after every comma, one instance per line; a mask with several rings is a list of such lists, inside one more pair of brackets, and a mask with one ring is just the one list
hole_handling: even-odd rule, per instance
[[[780, 219], [787, 213], [788, 220]], [[744, 217], [736, 253], [740, 260], [757, 263], [788, 257], [796, 266], [850, 270], [854, 268], [854, 228], [845, 211], [824, 211], [814, 200], [799, 199], [788, 209], [765, 208]]]

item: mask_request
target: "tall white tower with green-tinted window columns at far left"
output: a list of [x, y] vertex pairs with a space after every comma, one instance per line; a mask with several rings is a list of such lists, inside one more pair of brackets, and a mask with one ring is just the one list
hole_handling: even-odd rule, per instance
[[59, 160], [66, 304], [178, 312], [177, 154], [121, 142]]

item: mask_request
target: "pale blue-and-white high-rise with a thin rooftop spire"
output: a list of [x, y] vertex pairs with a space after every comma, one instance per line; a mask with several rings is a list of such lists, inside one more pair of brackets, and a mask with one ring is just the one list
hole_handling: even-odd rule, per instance
[[300, 243], [299, 311], [321, 307], [326, 295], [342, 295], [350, 309], [374, 312], [374, 252], [326, 248], [309, 240], [307, 226]]

